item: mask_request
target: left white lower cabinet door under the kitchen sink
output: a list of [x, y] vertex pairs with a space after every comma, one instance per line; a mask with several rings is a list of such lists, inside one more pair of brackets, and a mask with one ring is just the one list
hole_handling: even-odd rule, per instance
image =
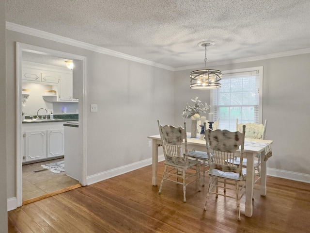
[[47, 158], [47, 131], [29, 131], [25, 136], [25, 161]]

